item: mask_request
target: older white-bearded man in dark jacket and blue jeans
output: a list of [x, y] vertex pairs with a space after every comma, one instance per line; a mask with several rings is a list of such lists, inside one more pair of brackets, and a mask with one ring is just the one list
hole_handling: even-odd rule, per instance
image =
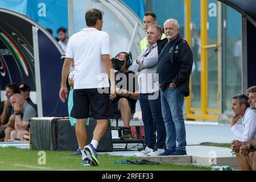
[[167, 150], [162, 155], [187, 155], [182, 109], [184, 97], [189, 96], [193, 54], [187, 41], [179, 35], [179, 29], [179, 23], [175, 19], [168, 19], [164, 23], [168, 42], [164, 44], [159, 55], [156, 70], [167, 133]]

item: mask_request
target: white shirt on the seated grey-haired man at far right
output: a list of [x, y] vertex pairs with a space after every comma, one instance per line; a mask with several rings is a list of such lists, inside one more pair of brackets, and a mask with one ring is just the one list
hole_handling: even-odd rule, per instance
[[231, 127], [231, 131], [242, 142], [256, 139], [256, 113], [253, 109], [248, 107], [245, 111], [245, 115], [242, 117], [242, 131], [235, 124]]

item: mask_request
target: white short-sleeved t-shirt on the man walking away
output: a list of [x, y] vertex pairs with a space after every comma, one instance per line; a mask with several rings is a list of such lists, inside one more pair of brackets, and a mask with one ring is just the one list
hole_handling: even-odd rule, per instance
[[84, 28], [72, 35], [66, 57], [75, 62], [74, 89], [109, 87], [101, 55], [109, 55], [109, 35], [96, 28]]

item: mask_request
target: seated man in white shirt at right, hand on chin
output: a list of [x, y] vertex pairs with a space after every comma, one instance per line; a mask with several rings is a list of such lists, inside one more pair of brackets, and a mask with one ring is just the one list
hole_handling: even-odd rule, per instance
[[[256, 113], [250, 108], [248, 97], [240, 94], [233, 97], [232, 109], [234, 116], [231, 119], [231, 130], [239, 140], [233, 140], [232, 151], [236, 152], [236, 158], [243, 170], [250, 169], [247, 156], [240, 154], [240, 147], [249, 140], [256, 139]], [[241, 118], [242, 117], [242, 118]], [[237, 122], [241, 119], [242, 131], [237, 126]]]

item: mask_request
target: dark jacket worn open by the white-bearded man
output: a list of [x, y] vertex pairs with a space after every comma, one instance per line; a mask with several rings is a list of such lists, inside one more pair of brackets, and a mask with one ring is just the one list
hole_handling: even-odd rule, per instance
[[[168, 42], [167, 38], [163, 40], [158, 40], [159, 54], [164, 53], [160, 50], [163, 49], [166, 42]], [[179, 47], [178, 50], [176, 50], [177, 46]], [[189, 76], [192, 71], [193, 53], [187, 41], [181, 38], [179, 34], [177, 36], [177, 39], [175, 40], [173, 51], [170, 53], [170, 60], [172, 62], [175, 72], [175, 77], [172, 78], [171, 82], [174, 82], [176, 84], [176, 87], [179, 91], [184, 91], [185, 97], [187, 97], [189, 96]], [[161, 89], [167, 89], [171, 82], [162, 83]]]

